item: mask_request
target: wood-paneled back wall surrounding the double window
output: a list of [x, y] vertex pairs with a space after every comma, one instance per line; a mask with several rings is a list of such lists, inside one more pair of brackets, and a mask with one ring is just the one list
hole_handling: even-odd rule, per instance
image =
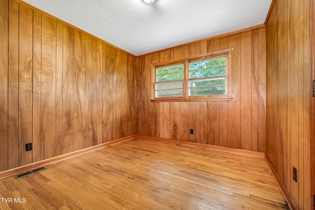
[[[261, 27], [137, 57], [136, 134], [264, 152], [265, 41]], [[233, 48], [231, 101], [150, 101], [151, 63], [227, 48]]]

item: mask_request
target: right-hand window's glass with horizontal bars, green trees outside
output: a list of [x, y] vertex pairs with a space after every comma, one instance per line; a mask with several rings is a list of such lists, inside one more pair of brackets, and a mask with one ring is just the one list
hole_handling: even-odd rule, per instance
[[188, 60], [188, 96], [226, 95], [226, 55]]

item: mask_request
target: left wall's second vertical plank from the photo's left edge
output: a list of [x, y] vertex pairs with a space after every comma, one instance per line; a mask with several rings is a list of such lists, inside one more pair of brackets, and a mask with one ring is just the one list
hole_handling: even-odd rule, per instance
[[[1, 4], [2, 5], [2, 4]], [[5, 13], [2, 13], [5, 14]], [[19, 53], [14, 50], [19, 46], [19, 3], [9, 1], [9, 54], [8, 54], [8, 169], [19, 166]], [[4, 30], [3, 30], [4, 31]], [[1, 38], [2, 39], [2, 38]], [[2, 48], [4, 49], [4, 47]], [[3, 60], [3, 59], [1, 59]], [[1, 66], [3, 66], [1, 64]], [[5, 66], [5, 65], [4, 65]], [[2, 75], [2, 74], [1, 74]], [[1, 76], [2, 77], [2, 76]], [[4, 77], [5, 78], [5, 77]], [[1, 78], [3, 79], [3, 78]], [[1, 81], [1, 84], [4, 84]], [[34, 84], [34, 82], [33, 82]], [[2, 92], [2, 91], [1, 91]], [[4, 101], [3, 99], [0, 99]], [[1, 102], [0, 102], [1, 103]], [[2, 104], [1, 104], [2, 106]], [[34, 107], [34, 104], [33, 104]], [[2, 126], [2, 125], [1, 125]], [[2, 134], [0, 134], [2, 135]], [[34, 139], [34, 137], [33, 137]], [[33, 141], [34, 144], [34, 141]], [[2, 152], [1, 152], [2, 153]], [[5, 152], [3, 152], [5, 154]], [[4, 157], [1, 159], [5, 160]]]

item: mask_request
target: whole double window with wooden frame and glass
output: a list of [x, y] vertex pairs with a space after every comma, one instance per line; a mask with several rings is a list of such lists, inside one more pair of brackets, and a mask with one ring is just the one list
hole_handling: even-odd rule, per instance
[[153, 65], [152, 101], [231, 100], [230, 50]]

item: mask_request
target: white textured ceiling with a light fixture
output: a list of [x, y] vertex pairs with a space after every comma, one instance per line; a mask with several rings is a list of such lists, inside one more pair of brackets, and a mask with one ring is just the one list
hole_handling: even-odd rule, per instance
[[272, 0], [24, 0], [135, 56], [263, 24]]

